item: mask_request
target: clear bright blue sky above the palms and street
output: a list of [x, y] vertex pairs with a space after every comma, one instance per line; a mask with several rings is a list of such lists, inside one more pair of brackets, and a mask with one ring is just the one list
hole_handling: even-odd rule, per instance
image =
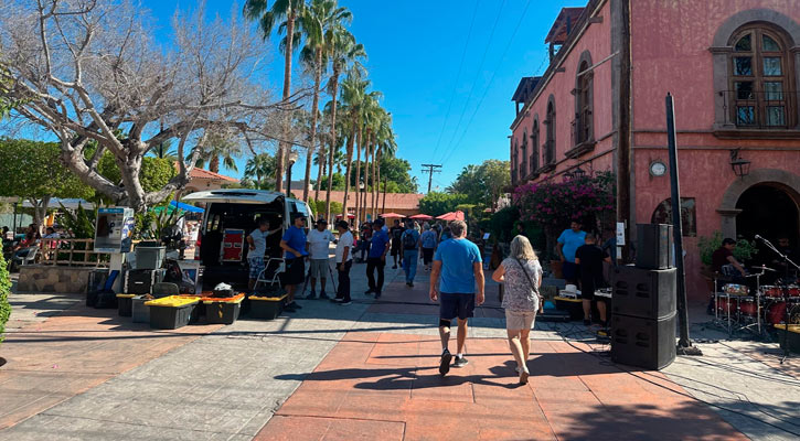
[[[397, 155], [412, 163], [420, 191], [427, 190], [428, 181], [423, 163], [444, 165], [434, 175], [434, 187], [444, 190], [468, 164], [508, 160], [511, 95], [520, 77], [546, 68], [544, 37], [561, 8], [584, 3], [340, 0], [353, 13], [351, 32], [369, 55], [373, 89], [383, 93], [383, 106], [394, 117]], [[160, 26], [168, 28], [175, 8], [186, 3], [143, 4]], [[207, 0], [206, 8], [211, 17], [228, 17], [231, 2]], [[277, 39], [265, 44], [271, 45], [270, 78], [279, 90], [282, 57]], [[295, 175], [301, 178], [303, 168], [298, 163]]]

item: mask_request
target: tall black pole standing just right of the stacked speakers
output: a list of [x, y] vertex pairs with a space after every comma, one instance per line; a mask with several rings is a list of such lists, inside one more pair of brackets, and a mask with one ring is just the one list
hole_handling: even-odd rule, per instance
[[689, 338], [689, 310], [686, 308], [686, 272], [683, 266], [683, 224], [681, 223], [681, 184], [678, 180], [678, 143], [675, 141], [675, 110], [671, 94], [666, 94], [666, 142], [670, 150], [670, 189], [672, 190], [672, 232], [678, 263], [678, 321], [681, 337], [678, 347], [692, 346]]

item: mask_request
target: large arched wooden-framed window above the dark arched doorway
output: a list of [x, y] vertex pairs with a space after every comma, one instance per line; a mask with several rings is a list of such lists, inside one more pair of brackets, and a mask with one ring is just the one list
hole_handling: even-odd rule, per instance
[[737, 127], [786, 128], [793, 120], [791, 57], [777, 30], [750, 24], [730, 39], [729, 95]]

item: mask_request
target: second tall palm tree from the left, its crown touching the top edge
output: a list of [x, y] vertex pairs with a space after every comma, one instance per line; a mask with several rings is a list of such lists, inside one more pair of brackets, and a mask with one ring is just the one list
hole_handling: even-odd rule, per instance
[[[306, 155], [306, 186], [303, 190], [303, 201], [308, 201], [308, 186], [311, 179], [311, 158], [317, 142], [317, 117], [319, 108], [319, 95], [322, 83], [322, 74], [328, 68], [326, 55], [328, 55], [328, 45], [331, 39], [330, 23], [349, 23], [352, 14], [345, 8], [337, 8], [334, 0], [311, 0], [303, 13], [299, 18], [299, 28], [306, 35], [306, 45], [300, 51], [300, 61], [313, 71], [313, 99], [311, 104], [311, 136], [309, 140], [309, 149]], [[323, 149], [320, 143], [320, 149]], [[320, 169], [321, 172], [321, 169]], [[322, 174], [317, 176], [317, 195], [319, 198], [319, 181]]]

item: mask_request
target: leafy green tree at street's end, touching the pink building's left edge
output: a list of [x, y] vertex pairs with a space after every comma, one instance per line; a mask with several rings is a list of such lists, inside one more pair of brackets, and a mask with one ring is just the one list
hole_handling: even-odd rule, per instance
[[487, 160], [480, 165], [467, 165], [447, 189], [448, 193], [469, 196], [472, 204], [497, 206], [503, 189], [511, 184], [509, 161]]

